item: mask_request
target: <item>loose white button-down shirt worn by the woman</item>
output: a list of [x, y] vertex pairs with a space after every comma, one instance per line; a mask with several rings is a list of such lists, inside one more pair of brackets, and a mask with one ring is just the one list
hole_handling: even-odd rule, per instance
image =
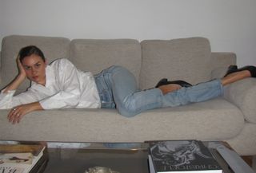
[[[4, 90], [3, 90], [4, 91]], [[46, 66], [46, 86], [32, 81], [26, 92], [0, 94], [0, 109], [39, 101], [42, 108], [101, 108], [92, 73], [77, 69], [67, 59], [58, 59]]]

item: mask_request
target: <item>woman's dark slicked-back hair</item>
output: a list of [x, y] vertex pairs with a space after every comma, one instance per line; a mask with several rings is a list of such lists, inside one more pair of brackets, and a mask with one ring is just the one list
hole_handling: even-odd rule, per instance
[[39, 57], [42, 58], [42, 61], [46, 61], [46, 58], [44, 56], [44, 54], [42, 53], [42, 50], [39, 49], [37, 46], [35, 45], [29, 45], [29, 46], [26, 46], [26, 47], [23, 47], [19, 53], [18, 53], [18, 56], [19, 56], [19, 60], [22, 62], [22, 60], [25, 58], [25, 57], [29, 57], [31, 55], [38, 55]]

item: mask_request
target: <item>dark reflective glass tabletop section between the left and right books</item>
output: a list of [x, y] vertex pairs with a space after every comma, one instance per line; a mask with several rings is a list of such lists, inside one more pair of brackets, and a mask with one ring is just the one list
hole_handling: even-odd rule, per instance
[[108, 167], [120, 173], [149, 172], [146, 143], [48, 143], [48, 155], [44, 173], [84, 173], [95, 167]]

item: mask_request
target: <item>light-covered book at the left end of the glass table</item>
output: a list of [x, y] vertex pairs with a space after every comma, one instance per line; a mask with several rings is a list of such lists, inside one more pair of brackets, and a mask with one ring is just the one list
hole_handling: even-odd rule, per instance
[[46, 163], [45, 151], [45, 144], [0, 144], [0, 172], [38, 172], [34, 167]]

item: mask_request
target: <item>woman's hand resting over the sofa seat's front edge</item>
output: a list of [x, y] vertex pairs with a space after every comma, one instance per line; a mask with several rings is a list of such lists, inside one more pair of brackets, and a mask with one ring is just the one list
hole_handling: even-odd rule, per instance
[[19, 123], [23, 116], [36, 110], [42, 110], [42, 106], [39, 102], [18, 105], [10, 110], [8, 114], [9, 122], [12, 124]]

